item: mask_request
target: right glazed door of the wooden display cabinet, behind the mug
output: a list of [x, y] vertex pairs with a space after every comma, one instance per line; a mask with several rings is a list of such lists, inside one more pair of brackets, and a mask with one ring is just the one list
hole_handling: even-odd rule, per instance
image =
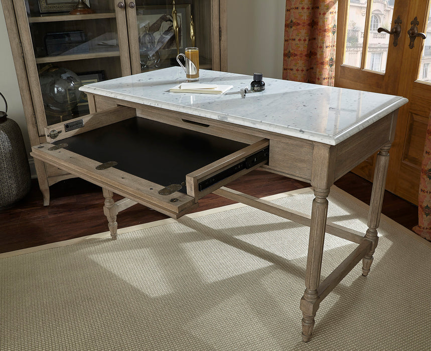
[[220, 70], [218, 1], [134, 0], [126, 6], [132, 74], [178, 66], [176, 56], [186, 47], [199, 48], [200, 68]]

